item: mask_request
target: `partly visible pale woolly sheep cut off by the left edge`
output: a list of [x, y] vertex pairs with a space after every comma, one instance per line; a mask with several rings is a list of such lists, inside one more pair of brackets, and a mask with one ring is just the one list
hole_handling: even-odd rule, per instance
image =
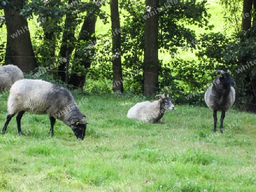
[[15, 81], [22, 80], [23, 73], [15, 65], [0, 66], [0, 91], [7, 91]]

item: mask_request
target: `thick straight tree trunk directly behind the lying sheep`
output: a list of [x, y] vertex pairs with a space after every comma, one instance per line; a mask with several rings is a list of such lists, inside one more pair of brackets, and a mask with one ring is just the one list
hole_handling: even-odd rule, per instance
[[146, 0], [151, 10], [147, 14], [144, 26], [144, 84], [145, 96], [155, 94], [158, 90], [158, 0]]

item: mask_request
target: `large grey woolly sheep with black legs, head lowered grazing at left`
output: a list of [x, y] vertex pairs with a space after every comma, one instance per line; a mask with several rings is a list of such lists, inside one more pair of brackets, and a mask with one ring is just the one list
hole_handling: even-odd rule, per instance
[[[86, 116], [82, 115], [71, 92], [60, 85], [43, 80], [19, 80], [10, 89], [7, 103], [8, 115], [2, 134], [13, 116], [16, 116], [18, 135], [22, 135], [20, 119], [25, 111], [32, 114], [47, 114], [51, 121], [49, 134], [53, 135], [56, 119], [71, 127], [77, 140], [83, 140], [86, 130]], [[85, 120], [82, 120], [85, 118]]]

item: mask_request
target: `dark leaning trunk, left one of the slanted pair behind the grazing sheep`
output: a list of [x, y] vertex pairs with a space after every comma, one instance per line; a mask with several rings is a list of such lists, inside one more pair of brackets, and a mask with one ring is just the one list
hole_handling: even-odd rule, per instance
[[[68, 5], [71, 5], [71, 3], [74, 0], [69, 0]], [[75, 22], [77, 14], [74, 14], [72, 11], [68, 11], [65, 18], [65, 26], [63, 31], [63, 37], [61, 41], [61, 47], [60, 47], [60, 57], [66, 57], [66, 51], [68, 51], [69, 55], [72, 54], [72, 52], [75, 49], [74, 43], [76, 41], [75, 37], [75, 30], [77, 27], [77, 23]], [[70, 44], [68, 43], [71, 42]], [[65, 81], [65, 62], [61, 62], [59, 65], [59, 76], [61, 77], [61, 81]]]

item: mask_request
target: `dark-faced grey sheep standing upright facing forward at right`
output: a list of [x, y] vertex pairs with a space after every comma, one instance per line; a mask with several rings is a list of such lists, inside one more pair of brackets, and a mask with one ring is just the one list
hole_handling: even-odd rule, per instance
[[217, 111], [221, 111], [220, 132], [223, 133], [223, 120], [226, 111], [233, 106], [235, 101], [235, 90], [233, 86], [236, 85], [232, 76], [223, 70], [215, 70], [214, 72], [221, 73], [221, 76], [216, 77], [213, 84], [207, 89], [204, 95], [205, 103], [213, 111], [214, 129], [216, 132]]

